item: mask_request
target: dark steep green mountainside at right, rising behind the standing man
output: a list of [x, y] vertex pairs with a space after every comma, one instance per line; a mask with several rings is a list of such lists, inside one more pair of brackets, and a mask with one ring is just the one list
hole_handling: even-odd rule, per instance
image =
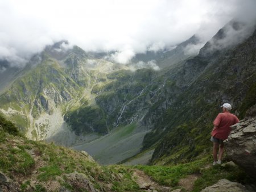
[[[195, 80], [166, 110], [154, 131], [145, 136], [143, 142], [147, 148], [152, 140], [157, 141], [164, 135], [152, 162], [188, 161], [210, 152], [210, 132], [214, 118], [221, 112], [219, 106], [231, 103], [232, 112], [241, 119], [256, 103], [255, 40], [256, 32], [243, 43], [213, 52], [211, 56], [205, 57], [201, 50], [199, 56], [185, 63], [185, 69], [189, 68], [194, 74], [201, 73], [197, 73]], [[205, 68], [202, 70], [201, 66]], [[181, 72], [184, 73], [184, 69]], [[186, 81], [184, 76], [182, 81]]]

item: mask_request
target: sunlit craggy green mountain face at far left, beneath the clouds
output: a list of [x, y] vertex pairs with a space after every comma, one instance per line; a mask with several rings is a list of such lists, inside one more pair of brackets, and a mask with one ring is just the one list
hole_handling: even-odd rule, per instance
[[47, 53], [43, 53], [40, 64], [27, 66], [23, 73], [1, 95], [1, 112], [30, 138], [42, 138], [47, 131], [44, 129], [47, 117], [56, 110], [61, 111], [61, 107], [75, 99], [81, 89]]

